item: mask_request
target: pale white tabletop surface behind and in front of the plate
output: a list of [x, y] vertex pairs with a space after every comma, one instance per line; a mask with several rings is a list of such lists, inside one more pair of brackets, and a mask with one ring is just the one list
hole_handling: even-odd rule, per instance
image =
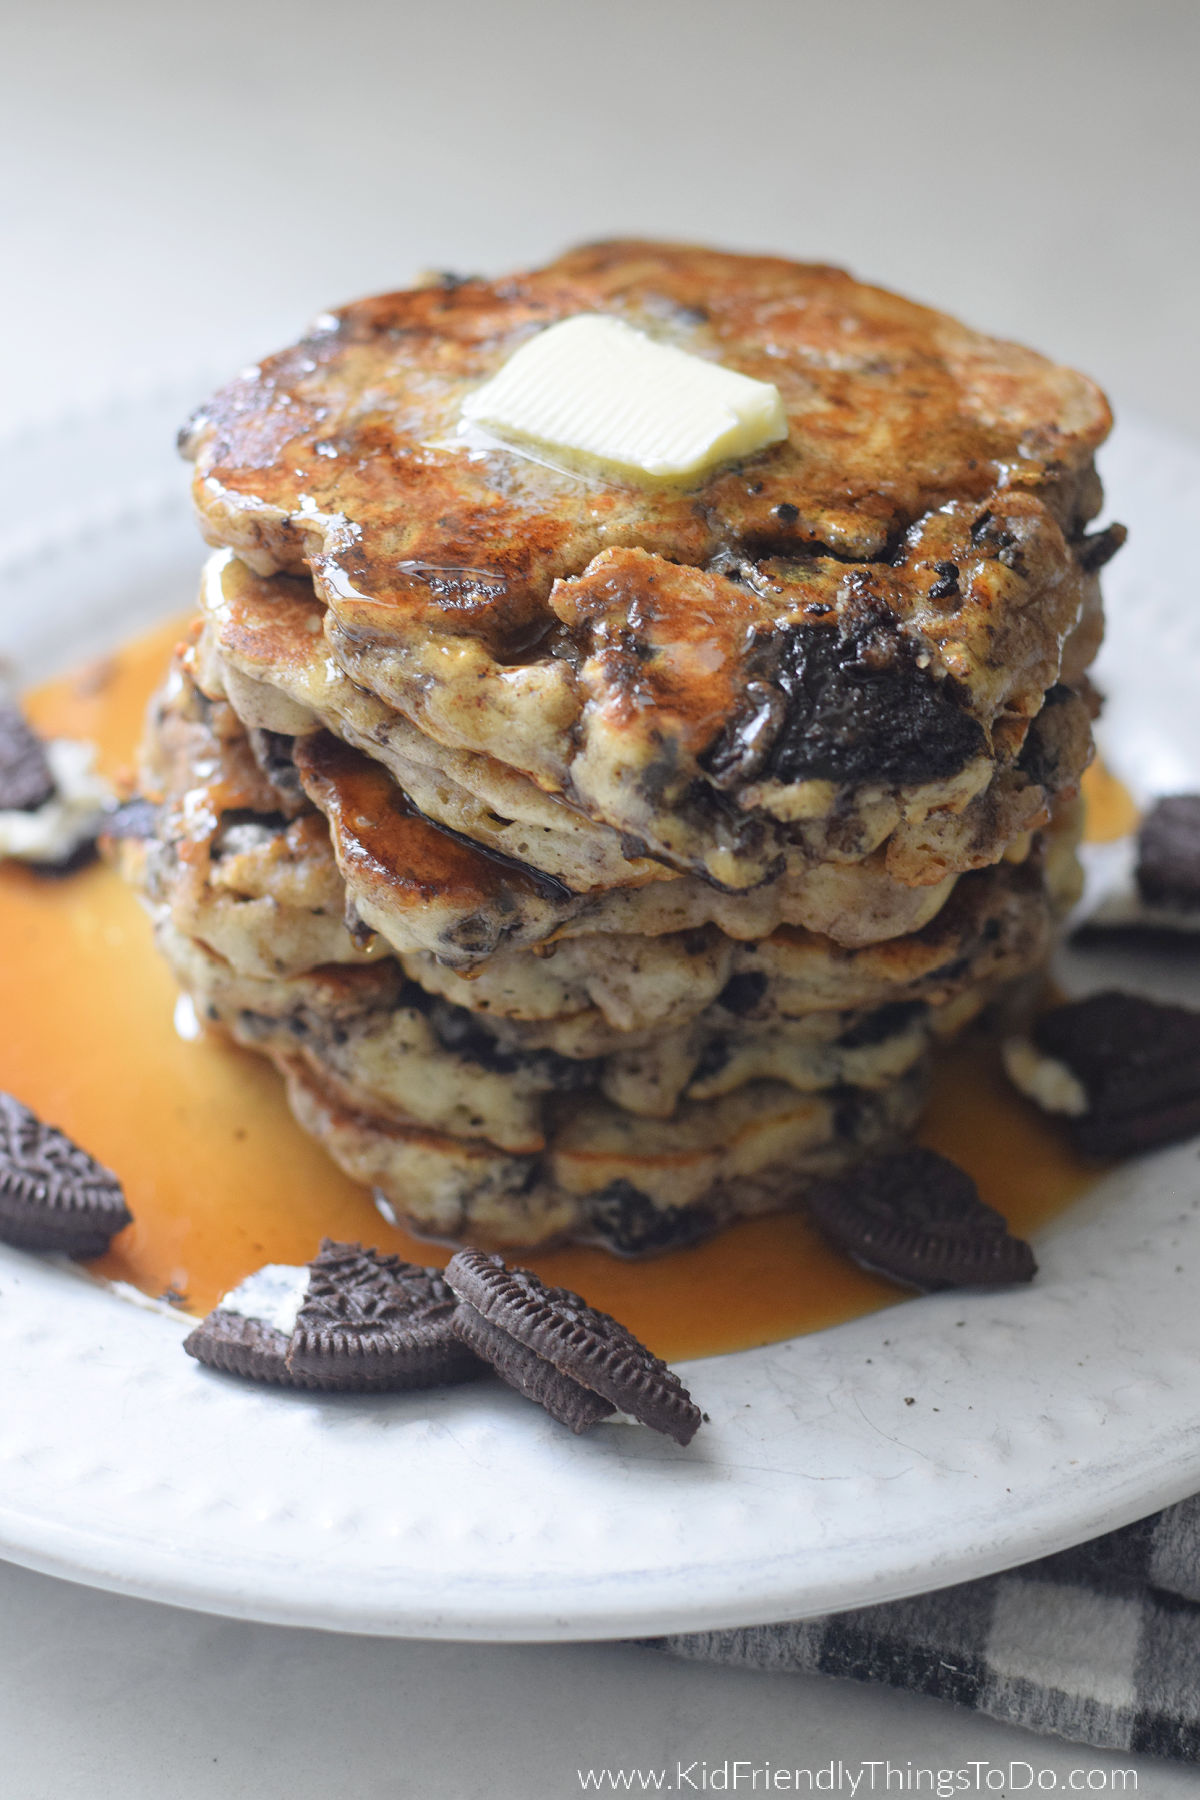
[[[416, 268], [646, 230], [849, 263], [1195, 432], [1193, 5], [5, 11], [9, 421], [189, 367], [200, 396]], [[16, 1570], [0, 1669], [4, 1800], [556, 1800], [579, 1762], [676, 1755], [1105, 1764], [837, 1683], [297, 1634]]]

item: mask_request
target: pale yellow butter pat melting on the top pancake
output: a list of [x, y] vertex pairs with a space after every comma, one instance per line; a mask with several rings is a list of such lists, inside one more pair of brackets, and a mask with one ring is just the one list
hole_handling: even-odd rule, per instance
[[529, 338], [462, 403], [498, 437], [657, 481], [702, 475], [788, 436], [779, 389], [604, 313]]

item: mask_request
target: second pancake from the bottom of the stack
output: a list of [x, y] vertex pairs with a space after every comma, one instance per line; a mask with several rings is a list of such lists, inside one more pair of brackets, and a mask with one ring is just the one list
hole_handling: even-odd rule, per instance
[[506, 1044], [471, 1013], [407, 983], [394, 963], [243, 976], [166, 922], [158, 947], [198, 1017], [239, 1044], [302, 1057], [351, 1105], [509, 1150], [542, 1148], [565, 1094], [594, 1091], [639, 1118], [669, 1120], [680, 1102], [754, 1080], [801, 1093], [887, 1087], [936, 1030], [921, 1004], [748, 1022], [736, 1033], [714, 1010], [615, 1057], [561, 1057]]

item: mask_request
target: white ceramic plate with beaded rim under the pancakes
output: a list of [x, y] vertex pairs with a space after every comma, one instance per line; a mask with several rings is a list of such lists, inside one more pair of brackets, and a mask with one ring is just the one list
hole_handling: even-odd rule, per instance
[[[187, 605], [200, 551], [162, 446], [203, 385], [0, 452], [22, 520], [0, 648], [29, 673]], [[1106, 751], [1141, 792], [1196, 787], [1200, 643], [1171, 556], [1200, 454], [1126, 425], [1106, 482], [1132, 526]], [[1063, 963], [1076, 988], [1114, 972]], [[1123, 974], [1186, 986], [1153, 961]], [[239, 1386], [180, 1354], [185, 1321], [0, 1251], [0, 1552], [245, 1618], [495, 1640], [741, 1625], [982, 1575], [1200, 1487], [1196, 1145], [1119, 1168], [1038, 1260], [1024, 1292], [693, 1363], [712, 1422], [678, 1451], [619, 1424], [570, 1438], [491, 1386]]]

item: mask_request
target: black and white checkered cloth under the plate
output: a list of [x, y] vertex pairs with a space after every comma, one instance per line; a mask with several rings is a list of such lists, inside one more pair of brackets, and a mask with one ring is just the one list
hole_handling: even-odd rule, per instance
[[916, 1600], [655, 1643], [883, 1681], [1079, 1744], [1200, 1762], [1200, 1496]]

